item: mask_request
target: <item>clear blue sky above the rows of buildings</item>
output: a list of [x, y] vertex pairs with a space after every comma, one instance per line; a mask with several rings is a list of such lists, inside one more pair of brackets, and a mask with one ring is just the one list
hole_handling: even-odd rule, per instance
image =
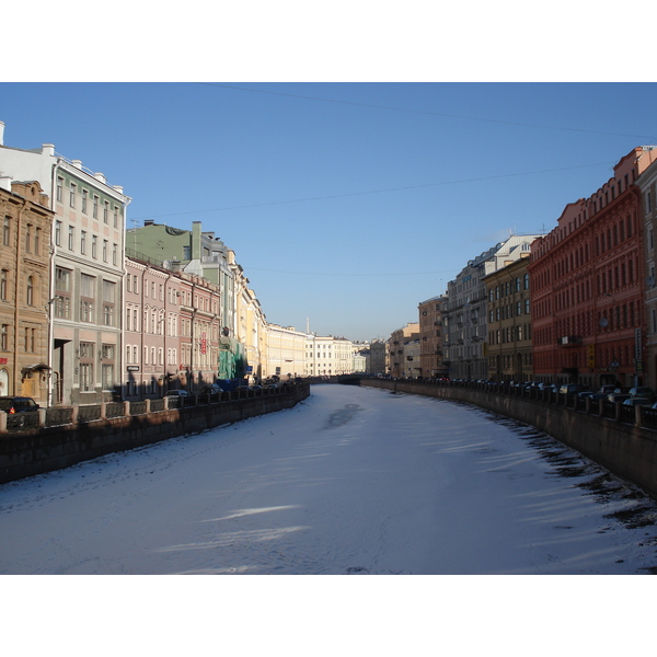
[[[201, 221], [267, 320], [388, 337], [472, 257], [550, 231], [632, 148], [654, 83], [2, 83], [5, 146], [51, 142], [134, 200]], [[47, 108], [47, 111], [46, 111]]]

